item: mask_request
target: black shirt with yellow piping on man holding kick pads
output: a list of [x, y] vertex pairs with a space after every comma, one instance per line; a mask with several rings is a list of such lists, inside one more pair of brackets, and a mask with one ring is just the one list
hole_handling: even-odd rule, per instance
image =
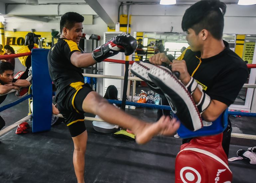
[[189, 74], [202, 86], [211, 99], [230, 105], [248, 78], [244, 61], [223, 41], [225, 49], [210, 58], [200, 58], [200, 52], [187, 48], [178, 60], [185, 60]]

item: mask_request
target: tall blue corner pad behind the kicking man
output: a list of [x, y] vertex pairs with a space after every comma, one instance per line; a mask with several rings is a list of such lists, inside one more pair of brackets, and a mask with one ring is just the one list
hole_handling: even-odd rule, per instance
[[52, 119], [52, 80], [48, 71], [49, 49], [32, 49], [32, 131], [51, 130]]

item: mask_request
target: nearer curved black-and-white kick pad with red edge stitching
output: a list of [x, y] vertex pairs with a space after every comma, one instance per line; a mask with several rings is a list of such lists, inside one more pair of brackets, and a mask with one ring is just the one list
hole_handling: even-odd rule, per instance
[[169, 69], [155, 66], [150, 69], [148, 76], [163, 91], [172, 111], [185, 127], [191, 131], [203, 127], [200, 112], [191, 93]]

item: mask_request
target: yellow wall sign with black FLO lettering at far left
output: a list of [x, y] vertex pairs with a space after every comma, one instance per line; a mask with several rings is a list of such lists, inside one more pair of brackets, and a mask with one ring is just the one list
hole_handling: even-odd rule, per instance
[[[24, 46], [25, 44], [25, 36], [28, 32], [26, 31], [5, 31], [4, 32], [4, 38], [5, 38], [5, 44], [7, 44], [7, 41], [9, 42], [9, 45], [13, 47], [13, 49], [16, 51]], [[43, 42], [43, 48], [50, 48], [46, 46], [46, 42], [52, 42], [52, 35], [51, 32], [34, 32], [35, 34], [41, 35], [41, 37], [44, 37]], [[21, 45], [19, 45], [21, 44]]]

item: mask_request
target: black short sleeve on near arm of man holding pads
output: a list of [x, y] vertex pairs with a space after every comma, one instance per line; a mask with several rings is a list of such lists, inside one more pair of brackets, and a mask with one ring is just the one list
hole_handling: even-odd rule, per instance
[[235, 101], [247, 78], [248, 72], [245, 69], [226, 72], [216, 78], [215, 84], [207, 94], [211, 99], [218, 100], [229, 106]]

